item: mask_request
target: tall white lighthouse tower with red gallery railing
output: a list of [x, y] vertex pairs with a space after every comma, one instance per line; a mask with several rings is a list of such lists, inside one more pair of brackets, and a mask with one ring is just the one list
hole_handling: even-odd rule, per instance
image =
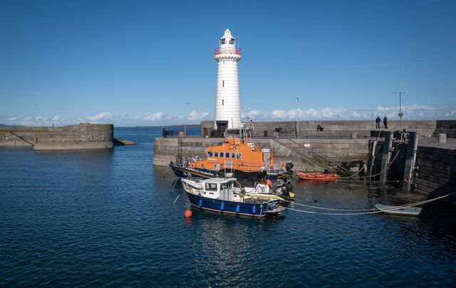
[[214, 128], [217, 129], [217, 124], [226, 122], [229, 129], [241, 127], [241, 97], [237, 70], [237, 61], [241, 60], [241, 49], [236, 48], [236, 39], [228, 29], [220, 38], [220, 48], [215, 49], [214, 58], [218, 63]]

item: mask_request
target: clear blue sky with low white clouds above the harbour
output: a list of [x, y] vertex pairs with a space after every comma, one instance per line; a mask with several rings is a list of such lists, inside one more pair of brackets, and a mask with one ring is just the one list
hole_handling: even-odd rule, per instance
[[213, 120], [225, 29], [243, 117], [456, 119], [455, 15], [454, 0], [4, 0], [0, 124]]

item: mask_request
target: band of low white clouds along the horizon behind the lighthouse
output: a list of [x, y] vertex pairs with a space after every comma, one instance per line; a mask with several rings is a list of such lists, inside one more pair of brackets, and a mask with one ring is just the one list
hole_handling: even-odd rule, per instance
[[[436, 108], [425, 105], [405, 105], [402, 108], [403, 120], [427, 120], [427, 119], [456, 119], [455, 107]], [[296, 121], [298, 116], [296, 108], [291, 110], [261, 111], [251, 110], [250, 119], [254, 122], [261, 121]], [[371, 110], [359, 110], [346, 107], [324, 107], [321, 109], [307, 108], [299, 110], [299, 119], [306, 120], [373, 120], [377, 115], [388, 116], [390, 120], [398, 120], [399, 107], [378, 106]], [[192, 110], [187, 114], [187, 124], [199, 124], [202, 120], [212, 120], [214, 114]], [[185, 115], [165, 114], [164, 112], [147, 113], [145, 115], [112, 114], [102, 112], [95, 116], [73, 117], [71, 119], [56, 115], [47, 117], [39, 115], [34, 117], [1, 117], [1, 124], [24, 125], [24, 126], [52, 126], [58, 122], [58, 126], [78, 124], [82, 122], [114, 124], [115, 126], [148, 126], [184, 124]], [[247, 121], [247, 112], [242, 113], [242, 121]]]

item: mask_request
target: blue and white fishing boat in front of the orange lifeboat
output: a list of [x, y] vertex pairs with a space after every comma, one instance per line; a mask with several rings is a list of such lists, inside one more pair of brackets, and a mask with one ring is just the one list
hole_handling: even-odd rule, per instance
[[278, 200], [246, 196], [234, 192], [236, 178], [181, 178], [192, 206], [237, 215], [264, 217], [284, 211]]

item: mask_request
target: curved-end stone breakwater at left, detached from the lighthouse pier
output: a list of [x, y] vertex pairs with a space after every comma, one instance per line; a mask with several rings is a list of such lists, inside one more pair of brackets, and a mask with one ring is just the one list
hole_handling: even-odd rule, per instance
[[113, 148], [113, 124], [63, 127], [0, 127], [0, 147], [35, 150]]

